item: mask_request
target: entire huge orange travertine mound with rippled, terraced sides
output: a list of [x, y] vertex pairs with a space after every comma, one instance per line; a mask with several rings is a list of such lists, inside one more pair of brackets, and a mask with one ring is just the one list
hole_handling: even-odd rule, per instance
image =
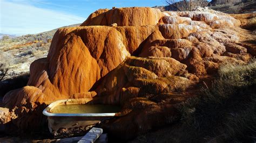
[[58, 99], [118, 104], [125, 116], [102, 127], [110, 135], [136, 137], [179, 119], [174, 105], [196, 96], [194, 85], [221, 62], [245, 63], [255, 55], [247, 50], [255, 45], [241, 44], [255, 37], [239, 25], [217, 12], [98, 10], [80, 27], [55, 33], [48, 57], [31, 64], [28, 85], [8, 92], [4, 106], [24, 131], [39, 128], [45, 104]]

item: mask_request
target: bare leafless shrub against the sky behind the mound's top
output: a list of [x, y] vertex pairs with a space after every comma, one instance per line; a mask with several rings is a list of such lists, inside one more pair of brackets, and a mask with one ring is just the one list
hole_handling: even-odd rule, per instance
[[171, 9], [178, 11], [191, 11], [198, 6], [205, 7], [208, 2], [205, 0], [165, 0], [166, 4], [169, 4]]

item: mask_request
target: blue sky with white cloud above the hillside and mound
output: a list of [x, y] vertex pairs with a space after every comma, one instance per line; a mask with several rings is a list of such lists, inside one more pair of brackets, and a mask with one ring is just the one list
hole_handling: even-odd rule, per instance
[[35, 34], [83, 23], [97, 9], [156, 5], [164, 0], [0, 0], [0, 33]]

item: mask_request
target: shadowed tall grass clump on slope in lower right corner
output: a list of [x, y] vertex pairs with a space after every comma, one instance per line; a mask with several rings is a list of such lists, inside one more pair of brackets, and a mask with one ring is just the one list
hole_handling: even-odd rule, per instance
[[187, 138], [256, 141], [256, 60], [222, 65], [212, 86], [180, 110]]

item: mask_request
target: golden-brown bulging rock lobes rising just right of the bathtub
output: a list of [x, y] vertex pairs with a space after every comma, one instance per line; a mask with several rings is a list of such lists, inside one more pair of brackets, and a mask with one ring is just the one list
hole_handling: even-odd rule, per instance
[[96, 103], [123, 105], [129, 98], [176, 90], [184, 83], [192, 85], [193, 82], [186, 78], [173, 77], [185, 73], [185, 68], [184, 64], [172, 58], [131, 56], [98, 83], [95, 91], [101, 99]]

